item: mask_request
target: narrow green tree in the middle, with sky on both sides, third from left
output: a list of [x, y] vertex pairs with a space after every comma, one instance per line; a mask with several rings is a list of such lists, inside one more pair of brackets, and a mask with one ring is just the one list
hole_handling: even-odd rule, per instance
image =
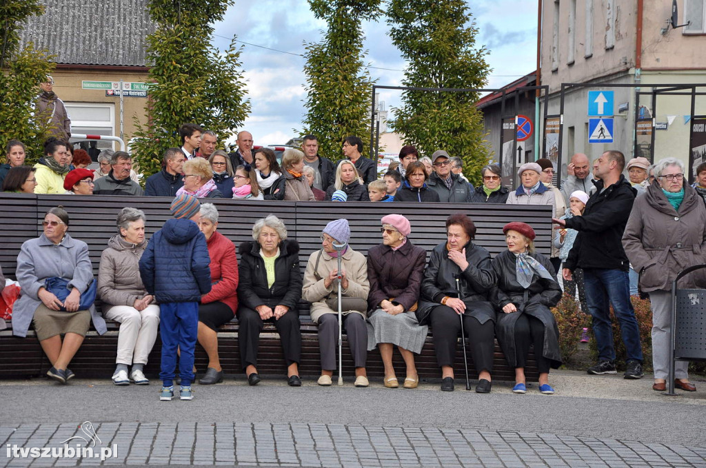
[[304, 131], [318, 137], [319, 154], [342, 159], [347, 136], [359, 136], [364, 155], [370, 144], [369, 111], [373, 81], [364, 70], [361, 22], [380, 16], [381, 0], [309, 0], [311, 11], [328, 23], [321, 42], [305, 44], [307, 97]]

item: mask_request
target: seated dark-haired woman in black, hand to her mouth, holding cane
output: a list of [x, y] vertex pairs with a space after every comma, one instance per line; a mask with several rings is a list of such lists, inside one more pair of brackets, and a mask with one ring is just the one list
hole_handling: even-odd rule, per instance
[[431, 323], [443, 392], [453, 392], [453, 361], [462, 329], [478, 372], [476, 392], [491, 391], [495, 313], [486, 293], [493, 285], [493, 272], [490, 253], [472, 243], [475, 236], [476, 226], [467, 215], [449, 216], [447, 240], [431, 251], [421, 282], [417, 318], [419, 323]]

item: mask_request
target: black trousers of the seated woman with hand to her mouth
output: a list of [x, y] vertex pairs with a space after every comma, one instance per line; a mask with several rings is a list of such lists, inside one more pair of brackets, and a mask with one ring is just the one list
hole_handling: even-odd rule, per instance
[[[463, 329], [471, 348], [471, 356], [476, 371], [493, 371], [495, 352], [495, 324], [493, 320], [481, 323], [477, 318], [463, 315]], [[431, 330], [433, 333], [436, 363], [441, 366], [453, 366], [456, 356], [458, 335], [461, 332], [461, 320], [449, 306], [436, 306], [431, 310]]]

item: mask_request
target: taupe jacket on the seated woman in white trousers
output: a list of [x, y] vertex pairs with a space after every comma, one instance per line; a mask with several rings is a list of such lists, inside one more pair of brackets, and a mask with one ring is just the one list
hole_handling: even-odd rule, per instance
[[146, 240], [131, 244], [120, 234], [110, 238], [108, 248], [100, 256], [98, 268], [98, 297], [101, 301], [111, 306], [132, 306], [147, 295], [140, 277], [140, 258], [146, 247]]

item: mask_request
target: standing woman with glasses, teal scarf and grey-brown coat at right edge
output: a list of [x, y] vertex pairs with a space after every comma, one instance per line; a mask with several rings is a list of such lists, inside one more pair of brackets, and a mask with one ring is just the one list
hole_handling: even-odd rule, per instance
[[[656, 184], [635, 198], [623, 234], [623, 247], [635, 271], [640, 273], [642, 292], [650, 293], [652, 308], [653, 390], [666, 390], [669, 375], [669, 328], [671, 284], [676, 275], [692, 265], [706, 263], [706, 208], [702, 198], [686, 184], [680, 160], [667, 157], [655, 164]], [[704, 270], [683, 277], [680, 288], [706, 287]], [[688, 361], [676, 362], [675, 385], [695, 392], [689, 383]]]

